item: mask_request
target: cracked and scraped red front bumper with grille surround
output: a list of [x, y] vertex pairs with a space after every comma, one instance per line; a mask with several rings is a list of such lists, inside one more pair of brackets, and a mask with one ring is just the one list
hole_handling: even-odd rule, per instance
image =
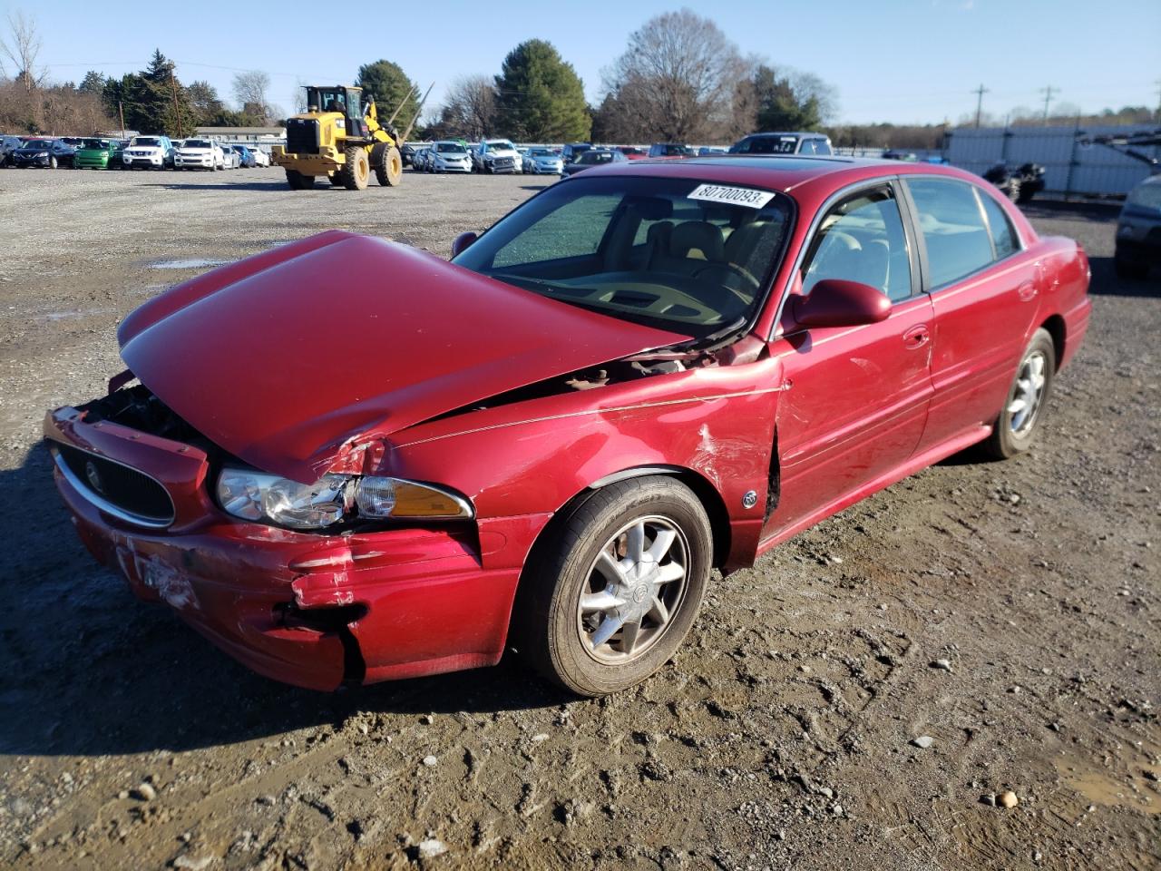
[[240, 521], [210, 499], [202, 451], [84, 418], [71, 408], [50, 412], [50, 447], [153, 477], [174, 520], [128, 521], [58, 462], [57, 488], [81, 541], [139, 598], [168, 604], [254, 671], [333, 690], [499, 661], [520, 569], [547, 514], [342, 535]]

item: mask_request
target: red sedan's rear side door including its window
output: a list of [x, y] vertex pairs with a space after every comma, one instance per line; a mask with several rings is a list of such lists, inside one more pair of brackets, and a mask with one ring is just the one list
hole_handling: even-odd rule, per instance
[[1038, 310], [1040, 266], [987, 190], [935, 175], [904, 183], [935, 307], [922, 449], [996, 419]]

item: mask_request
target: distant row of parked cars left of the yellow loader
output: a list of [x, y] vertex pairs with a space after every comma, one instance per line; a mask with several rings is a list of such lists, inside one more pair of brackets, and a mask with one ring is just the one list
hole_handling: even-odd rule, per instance
[[261, 149], [214, 139], [135, 136], [131, 139], [74, 136], [2, 136], [0, 166], [56, 170], [237, 170], [269, 166]]

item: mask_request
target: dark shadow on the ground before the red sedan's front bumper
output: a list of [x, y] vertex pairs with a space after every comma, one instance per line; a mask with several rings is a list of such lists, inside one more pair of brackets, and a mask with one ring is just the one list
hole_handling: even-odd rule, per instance
[[0, 472], [10, 519], [0, 590], [0, 754], [104, 755], [236, 743], [353, 714], [497, 712], [571, 700], [511, 656], [496, 668], [344, 688], [264, 678], [164, 605], [130, 593], [80, 544], [43, 445]]

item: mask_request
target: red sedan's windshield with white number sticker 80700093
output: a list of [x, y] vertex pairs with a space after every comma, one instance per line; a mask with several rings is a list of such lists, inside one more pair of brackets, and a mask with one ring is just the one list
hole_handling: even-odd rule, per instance
[[704, 338], [740, 327], [762, 304], [789, 216], [786, 197], [755, 188], [577, 177], [519, 207], [454, 262], [560, 302]]

